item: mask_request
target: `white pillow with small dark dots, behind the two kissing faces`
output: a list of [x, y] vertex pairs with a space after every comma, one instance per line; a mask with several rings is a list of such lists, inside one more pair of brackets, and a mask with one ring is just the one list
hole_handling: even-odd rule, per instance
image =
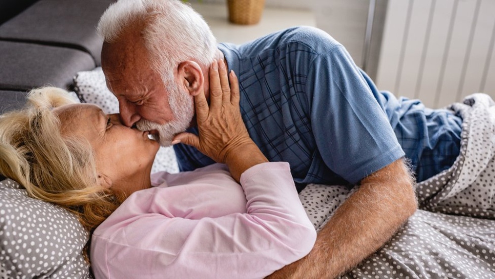
[[[119, 102], [106, 87], [101, 67], [77, 73], [74, 77], [74, 91], [82, 102], [98, 105], [105, 113], [119, 112]], [[177, 158], [172, 147], [160, 147], [158, 150], [151, 173], [157, 171], [179, 172]]]

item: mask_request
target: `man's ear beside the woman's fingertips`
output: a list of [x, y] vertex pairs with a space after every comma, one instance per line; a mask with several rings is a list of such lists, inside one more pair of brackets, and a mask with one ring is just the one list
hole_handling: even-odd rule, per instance
[[191, 96], [203, 93], [204, 76], [198, 63], [187, 60], [180, 63], [177, 70], [180, 82], [189, 91]]

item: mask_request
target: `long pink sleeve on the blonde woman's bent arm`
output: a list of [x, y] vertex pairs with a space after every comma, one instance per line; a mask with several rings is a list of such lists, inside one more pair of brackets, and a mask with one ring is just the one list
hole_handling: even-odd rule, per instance
[[[189, 220], [146, 214], [93, 236], [97, 278], [263, 278], [305, 256], [316, 232], [287, 163], [241, 176], [247, 213]], [[156, 206], [156, 205], [154, 205]]]

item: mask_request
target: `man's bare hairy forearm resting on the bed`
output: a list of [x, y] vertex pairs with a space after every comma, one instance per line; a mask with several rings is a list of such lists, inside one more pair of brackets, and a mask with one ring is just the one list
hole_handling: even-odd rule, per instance
[[335, 278], [380, 248], [416, 209], [413, 179], [399, 159], [361, 181], [306, 257], [268, 278]]

